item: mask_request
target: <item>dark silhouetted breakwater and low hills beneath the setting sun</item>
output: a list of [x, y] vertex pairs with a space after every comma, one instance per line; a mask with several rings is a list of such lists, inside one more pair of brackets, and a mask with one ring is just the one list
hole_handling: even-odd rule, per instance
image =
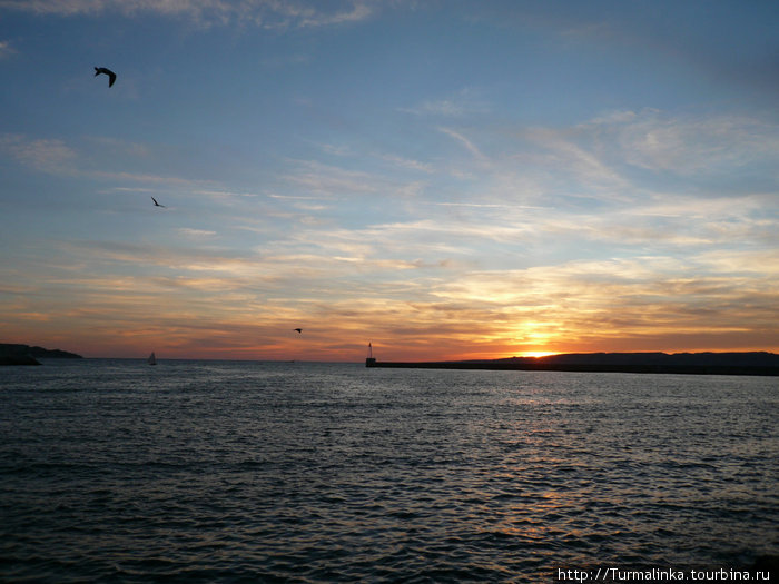
[[779, 376], [772, 353], [592, 353], [492, 360], [379, 362], [366, 367], [402, 369], [483, 369], [520, 372], [637, 373]]

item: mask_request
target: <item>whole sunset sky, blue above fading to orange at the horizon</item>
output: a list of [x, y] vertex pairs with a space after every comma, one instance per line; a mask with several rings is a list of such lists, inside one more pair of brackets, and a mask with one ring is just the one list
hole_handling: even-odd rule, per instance
[[0, 0], [0, 342], [779, 352], [778, 24], [760, 0]]

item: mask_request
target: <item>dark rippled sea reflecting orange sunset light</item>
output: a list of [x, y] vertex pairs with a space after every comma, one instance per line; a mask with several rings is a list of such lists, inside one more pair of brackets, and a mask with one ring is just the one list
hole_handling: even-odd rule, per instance
[[732, 581], [778, 429], [776, 377], [2, 367], [0, 581]]

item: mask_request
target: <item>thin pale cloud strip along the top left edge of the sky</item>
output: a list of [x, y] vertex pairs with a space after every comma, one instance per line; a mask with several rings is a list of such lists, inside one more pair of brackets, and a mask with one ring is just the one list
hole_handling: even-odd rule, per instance
[[306, 0], [0, 0], [0, 9], [36, 14], [126, 17], [151, 13], [179, 17], [198, 26], [250, 23], [264, 28], [318, 28], [359, 22], [374, 13], [374, 2], [342, 0], [322, 3]]

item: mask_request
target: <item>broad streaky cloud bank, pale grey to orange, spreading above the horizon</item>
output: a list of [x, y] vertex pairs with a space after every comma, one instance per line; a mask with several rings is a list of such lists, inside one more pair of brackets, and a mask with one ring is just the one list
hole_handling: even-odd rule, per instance
[[[664, 129], [677, 141], [648, 150], [645, 136]], [[337, 164], [287, 159], [266, 194], [151, 171], [70, 170], [125, 180], [116, 190], [169, 186], [241, 214], [231, 224], [186, 216], [198, 222], [156, 231], [154, 245], [141, 232], [132, 245], [51, 246], [66, 256], [51, 261], [59, 271], [47, 265], [22, 281], [7, 269], [0, 279], [26, 289], [11, 290], [12, 309], [2, 306], [27, 315], [19, 330], [49, 310], [73, 335], [105, 328], [106, 343], [115, 343], [111, 318], [142, 344], [169, 327], [169, 349], [187, 356], [288, 356], [284, 331], [306, 321], [327, 330], [310, 358], [359, 357], [368, 336], [382, 358], [779, 346], [776, 190], [690, 188], [717, 176], [709, 157], [740, 168], [753, 156], [769, 167], [777, 132], [768, 121], [647, 110], [565, 128], [428, 131], [451, 139], [460, 160], [447, 168], [357, 149], [322, 155]], [[154, 158], [141, 145], [89, 140]], [[0, 148], [48, 171], [76, 166], [76, 151], [56, 139], [3, 135]], [[454, 170], [474, 180], [448, 180]], [[359, 195], [359, 205], [333, 200]]]

